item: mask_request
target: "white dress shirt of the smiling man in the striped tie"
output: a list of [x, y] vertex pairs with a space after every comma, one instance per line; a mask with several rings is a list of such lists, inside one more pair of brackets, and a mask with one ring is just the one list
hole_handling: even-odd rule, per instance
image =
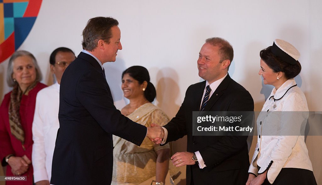
[[[211, 83], [211, 84], [209, 84], [209, 82], [208, 82], [208, 81], [206, 81], [206, 85], [205, 85], [205, 87], [204, 87], [204, 94], [206, 93], [206, 87], [207, 87], [208, 85], [210, 86], [210, 89], [211, 89], [211, 91], [210, 91], [210, 93], [209, 93], [209, 97], [208, 97], [208, 99], [210, 99], [210, 97], [213, 95], [213, 92], [218, 88], [218, 86], [222, 83], [223, 79], [225, 79], [227, 75], [228, 75], [228, 73], [227, 73], [223, 78], [221, 78], [221, 79], [219, 79], [219, 80], [216, 80], [216, 81], [214, 81], [214, 82], [213, 82], [213, 83]], [[204, 100], [204, 94], [203, 94], [202, 99], [201, 99], [201, 104], [202, 104], [202, 102], [203, 102], [203, 100]], [[201, 104], [200, 104], [200, 107], [201, 107]], [[200, 108], [199, 108], [199, 109], [200, 109]], [[192, 114], [192, 113], [191, 113], [191, 114]], [[164, 144], [164, 143], [166, 143], [166, 139], [167, 139], [167, 137], [168, 137], [168, 131], [167, 131], [167, 129], [166, 129], [166, 128], [164, 128], [164, 127], [162, 127], [162, 128], [163, 128], [163, 130], [164, 130], [164, 139], [162, 140], [162, 144]], [[199, 152], [199, 151], [196, 151], [196, 152], [195, 152], [195, 154], [196, 154], [196, 157], [197, 157], [197, 159], [198, 159], [198, 165], [199, 165], [199, 168], [200, 168], [200, 169], [203, 169], [204, 167], [206, 167], [206, 165], [205, 165], [205, 163], [204, 163], [204, 159], [202, 158], [202, 156], [201, 156], [200, 152]]]

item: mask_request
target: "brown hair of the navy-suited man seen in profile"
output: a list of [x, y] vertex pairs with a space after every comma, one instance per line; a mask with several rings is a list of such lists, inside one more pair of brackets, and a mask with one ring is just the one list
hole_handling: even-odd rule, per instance
[[112, 17], [91, 18], [83, 30], [83, 49], [93, 51], [101, 39], [109, 44], [109, 39], [112, 37], [111, 28], [117, 25], [118, 21]]

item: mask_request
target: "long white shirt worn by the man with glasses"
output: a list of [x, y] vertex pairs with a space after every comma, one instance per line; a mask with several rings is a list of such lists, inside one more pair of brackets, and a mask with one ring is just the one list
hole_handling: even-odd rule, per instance
[[33, 177], [34, 182], [49, 180], [52, 174], [52, 155], [54, 153], [59, 128], [59, 88], [55, 84], [40, 90], [36, 97], [33, 117]]

